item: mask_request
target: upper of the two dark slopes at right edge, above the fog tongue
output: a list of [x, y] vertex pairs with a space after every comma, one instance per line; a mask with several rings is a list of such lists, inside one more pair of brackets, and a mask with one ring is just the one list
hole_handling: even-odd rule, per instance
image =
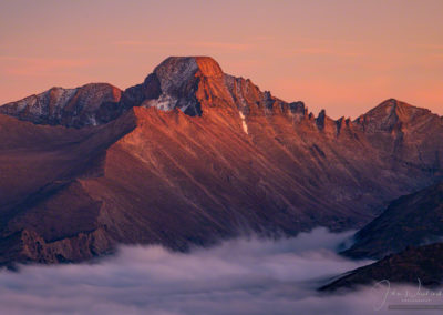
[[419, 246], [443, 237], [443, 183], [393, 201], [356, 234], [356, 243], [343, 254], [381, 258], [409, 245]]

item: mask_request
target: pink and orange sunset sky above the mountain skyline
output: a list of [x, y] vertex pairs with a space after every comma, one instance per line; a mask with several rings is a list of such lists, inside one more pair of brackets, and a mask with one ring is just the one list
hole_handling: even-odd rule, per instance
[[395, 98], [443, 114], [443, 1], [0, 0], [0, 104], [53, 85], [140, 83], [212, 55], [316, 114]]

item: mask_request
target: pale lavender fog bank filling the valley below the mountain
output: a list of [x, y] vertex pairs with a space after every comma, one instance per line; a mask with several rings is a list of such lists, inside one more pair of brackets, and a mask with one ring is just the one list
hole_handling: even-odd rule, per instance
[[[368, 262], [336, 254], [351, 232], [241, 238], [188, 254], [123, 246], [95, 264], [0, 272], [1, 314], [380, 314], [385, 291], [316, 292]], [[392, 313], [392, 312], [390, 312]]]

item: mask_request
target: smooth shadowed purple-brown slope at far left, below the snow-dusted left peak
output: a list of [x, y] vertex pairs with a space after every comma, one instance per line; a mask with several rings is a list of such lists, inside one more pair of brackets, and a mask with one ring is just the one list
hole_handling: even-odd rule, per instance
[[100, 175], [105, 149], [134, 128], [132, 113], [106, 126], [83, 130], [34, 125], [0, 114], [1, 212], [48, 184]]

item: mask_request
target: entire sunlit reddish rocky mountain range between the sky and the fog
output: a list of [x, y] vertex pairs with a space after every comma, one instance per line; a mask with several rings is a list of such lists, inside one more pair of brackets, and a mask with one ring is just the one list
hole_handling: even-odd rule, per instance
[[168, 58], [125, 91], [52, 88], [0, 113], [3, 265], [359, 228], [443, 179], [442, 116], [396, 100], [315, 116], [207, 57]]

